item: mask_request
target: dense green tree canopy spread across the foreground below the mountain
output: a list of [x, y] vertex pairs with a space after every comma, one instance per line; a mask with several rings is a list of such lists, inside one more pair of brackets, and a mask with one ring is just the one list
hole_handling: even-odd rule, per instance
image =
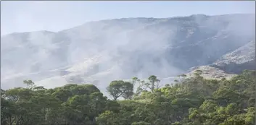
[[113, 100], [94, 85], [45, 89], [24, 81], [26, 88], [1, 90], [1, 125], [255, 124], [255, 71], [230, 80], [201, 73], [165, 87], [155, 76], [113, 81], [107, 87]]

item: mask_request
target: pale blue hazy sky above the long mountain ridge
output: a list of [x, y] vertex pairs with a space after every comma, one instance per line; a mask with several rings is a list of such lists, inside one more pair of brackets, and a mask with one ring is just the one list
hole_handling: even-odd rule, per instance
[[1, 1], [1, 35], [123, 17], [255, 13], [255, 1]]

